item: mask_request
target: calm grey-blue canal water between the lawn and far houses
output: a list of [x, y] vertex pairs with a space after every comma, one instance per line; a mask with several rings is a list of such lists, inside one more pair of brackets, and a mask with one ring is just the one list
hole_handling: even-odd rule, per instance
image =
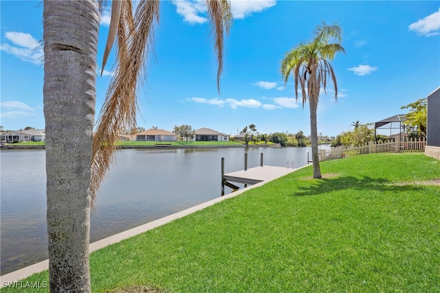
[[[325, 145], [321, 148], [328, 148]], [[91, 212], [90, 241], [126, 231], [221, 195], [225, 173], [263, 164], [307, 165], [310, 148], [179, 148], [116, 152]], [[1, 150], [1, 274], [47, 259], [45, 151]], [[239, 185], [243, 187], [243, 185]], [[225, 194], [232, 191], [225, 187]]]

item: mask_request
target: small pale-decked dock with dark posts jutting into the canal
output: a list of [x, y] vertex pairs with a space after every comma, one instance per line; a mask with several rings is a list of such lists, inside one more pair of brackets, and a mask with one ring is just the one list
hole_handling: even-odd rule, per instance
[[248, 184], [254, 185], [256, 183], [261, 183], [263, 181], [270, 181], [276, 178], [280, 178], [282, 176], [294, 172], [295, 170], [296, 169], [287, 168], [287, 167], [260, 166], [260, 167], [254, 167], [228, 174], [222, 174], [221, 196], [225, 195], [225, 186], [234, 189], [234, 191], [239, 189], [239, 187], [233, 185], [231, 182], [243, 183], [245, 187], [247, 187]]

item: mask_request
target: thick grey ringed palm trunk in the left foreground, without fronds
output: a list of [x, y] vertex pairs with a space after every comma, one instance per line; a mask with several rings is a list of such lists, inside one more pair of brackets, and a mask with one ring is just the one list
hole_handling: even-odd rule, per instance
[[98, 4], [45, 1], [43, 19], [50, 292], [90, 292]]

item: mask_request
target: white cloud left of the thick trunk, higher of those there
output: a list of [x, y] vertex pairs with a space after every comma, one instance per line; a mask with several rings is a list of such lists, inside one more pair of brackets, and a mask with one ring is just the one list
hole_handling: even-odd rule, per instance
[[23, 32], [6, 32], [5, 38], [13, 45], [1, 44], [0, 49], [12, 54], [25, 62], [41, 65], [43, 61], [43, 46], [30, 34]]

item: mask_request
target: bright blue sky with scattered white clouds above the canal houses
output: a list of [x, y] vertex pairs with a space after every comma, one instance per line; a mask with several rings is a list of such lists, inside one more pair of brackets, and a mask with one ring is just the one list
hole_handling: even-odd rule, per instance
[[[203, 1], [202, 1], [203, 2]], [[174, 126], [236, 134], [249, 124], [260, 133], [310, 133], [309, 105], [283, 84], [285, 53], [311, 40], [322, 21], [342, 28], [346, 54], [331, 61], [338, 81], [318, 104], [318, 133], [351, 130], [405, 113], [405, 106], [440, 85], [439, 1], [231, 1], [234, 21], [225, 39], [221, 93], [206, 9], [199, 1], [161, 1], [155, 58], [140, 87], [137, 126]], [[43, 6], [41, 1], [0, 1], [1, 126], [44, 128]], [[108, 33], [100, 26], [98, 65]], [[97, 78], [99, 113], [113, 56]], [[300, 97], [299, 97], [300, 98]]]

